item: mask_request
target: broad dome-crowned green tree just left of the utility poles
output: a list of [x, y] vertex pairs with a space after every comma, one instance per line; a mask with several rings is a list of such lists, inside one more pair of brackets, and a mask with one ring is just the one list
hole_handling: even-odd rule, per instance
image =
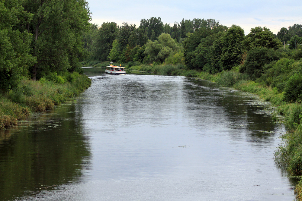
[[266, 27], [252, 28], [242, 44], [246, 51], [259, 47], [273, 48], [275, 50], [282, 47], [281, 41], [276, 39], [274, 34]]

